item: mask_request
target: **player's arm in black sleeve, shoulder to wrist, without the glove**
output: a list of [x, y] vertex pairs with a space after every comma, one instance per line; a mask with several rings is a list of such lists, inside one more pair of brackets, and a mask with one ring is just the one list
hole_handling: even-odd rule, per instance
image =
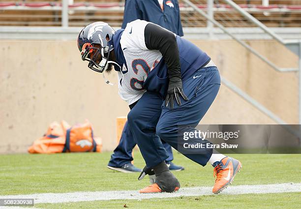
[[167, 65], [169, 78], [181, 81], [181, 63], [175, 34], [158, 25], [149, 23], [144, 30], [145, 45], [148, 49], [159, 50]]

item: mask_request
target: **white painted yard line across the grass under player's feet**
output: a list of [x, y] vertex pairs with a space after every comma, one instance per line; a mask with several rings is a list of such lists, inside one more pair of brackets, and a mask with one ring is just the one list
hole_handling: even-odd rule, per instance
[[[30, 195], [6, 195], [2, 198], [34, 198], [34, 204], [38, 203], [66, 203], [95, 200], [140, 200], [150, 198], [171, 198], [180, 196], [212, 195], [212, 187], [184, 187], [174, 193], [140, 194], [137, 190], [129, 191], [101, 191], [101, 192], [70, 192], [70, 193], [41, 193]], [[229, 186], [221, 194], [262, 194], [301, 192], [301, 183], [281, 183], [266, 185], [241, 185]], [[220, 195], [220, 194], [218, 194]]]

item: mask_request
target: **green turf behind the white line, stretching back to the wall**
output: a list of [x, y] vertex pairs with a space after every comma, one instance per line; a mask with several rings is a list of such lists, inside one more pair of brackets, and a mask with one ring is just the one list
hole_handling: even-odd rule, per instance
[[[109, 170], [110, 152], [0, 155], [0, 195], [72, 191], [138, 190], [149, 184], [139, 174]], [[234, 185], [301, 182], [301, 155], [241, 154], [243, 168]], [[174, 162], [185, 167], [175, 172], [182, 187], [212, 186], [212, 167], [201, 167], [174, 151]], [[139, 151], [134, 163], [144, 166]]]

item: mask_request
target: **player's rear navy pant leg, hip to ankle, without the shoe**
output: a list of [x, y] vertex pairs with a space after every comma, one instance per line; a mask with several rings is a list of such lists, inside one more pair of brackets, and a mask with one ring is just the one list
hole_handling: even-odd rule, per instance
[[[175, 103], [174, 109], [162, 108], [156, 133], [162, 140], [180, 151], [189, 159], [205, 166], [211, 157], [212, 149], [184, 149], [184, 143], [208, 143], [199, 138], [183, 140], [184, 132], [194, 132], [196, 125], [211, 106], [220, 87], [219, 73], [216, 67], [203, 68], [183, 81], [183, 91], [188, 101], [181, 100], [182, 105]], [[178, 144], [179, 143], [179, 144]]]

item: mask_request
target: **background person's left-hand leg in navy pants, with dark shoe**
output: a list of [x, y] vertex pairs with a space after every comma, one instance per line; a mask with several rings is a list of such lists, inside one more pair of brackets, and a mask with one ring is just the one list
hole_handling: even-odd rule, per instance
[[[141, 169], [134, 167], [133, 165], [127, 166], [133, 160], [132, 150], [136, 146], [136, 141], [126, 121], [122, 130], [119, 144], [111, 155], [111, 159], [108, 163], [108, 168], [117, 170], [120, 172], [141, 172]], [[122, 166], [126, 166], [122, 168]], [[118, 169], [116, 169], [118, 168]]]

